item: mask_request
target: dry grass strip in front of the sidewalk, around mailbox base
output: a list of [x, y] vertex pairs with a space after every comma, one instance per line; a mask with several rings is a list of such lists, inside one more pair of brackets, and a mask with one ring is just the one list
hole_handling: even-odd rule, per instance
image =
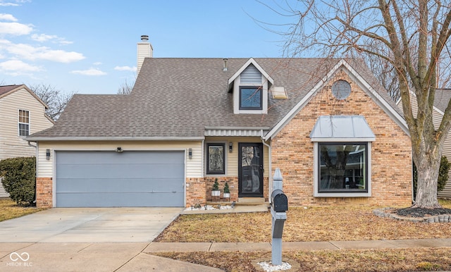
[[[252, 261], [270, 261], [271, 252], [168, 252], [155, 254], [221, 268], [225, 271], [257, 271]], [[449, 248], [320, 250], [283, 252], [296, 261], [297, 271], [450, 271]]]

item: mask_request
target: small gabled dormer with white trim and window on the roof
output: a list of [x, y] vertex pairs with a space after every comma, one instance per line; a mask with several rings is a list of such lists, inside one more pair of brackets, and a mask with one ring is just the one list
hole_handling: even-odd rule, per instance
[[233, 93], [233, 113], [267, 113], [271, 85], [273, 79], [254, 58], [249, 58], [228, 80], [228, 91]]

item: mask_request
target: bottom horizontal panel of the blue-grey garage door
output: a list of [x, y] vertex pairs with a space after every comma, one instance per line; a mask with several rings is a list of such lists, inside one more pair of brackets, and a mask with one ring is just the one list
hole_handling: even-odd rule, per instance
[[[123, 206], [161, 206], [154, 203], [164, 204], [164, 206], [183, 206], [183, 201], [167, 202], [167, 199], [183, 199], [183, 193], [166, 194], [142, 194], [142, 193], [82, 193], [64, 194], [58, 201], [59, 206], [72, 206], [79, 199], [85, 199], [79, 203], [79, 207], [123, 207]], [[147, 204], [146, 204], [147, 203]], [[144, 204], [144, 205], [143, 205]]]

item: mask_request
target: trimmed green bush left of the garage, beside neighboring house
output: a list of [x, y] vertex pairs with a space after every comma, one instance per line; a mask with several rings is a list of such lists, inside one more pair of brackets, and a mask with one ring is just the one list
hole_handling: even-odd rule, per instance
[[35, 200], [36, 158], [23, 157], [0, 161], [1, 183], [11, 199], [19, 205], [30, 206]]

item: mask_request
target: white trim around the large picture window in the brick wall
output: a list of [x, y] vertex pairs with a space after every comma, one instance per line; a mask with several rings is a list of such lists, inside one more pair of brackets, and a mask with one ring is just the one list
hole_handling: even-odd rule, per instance
[[[335, 142], [335, 141], [334, 141]], [[342, 141], [345, 142], [345, 141]], [[355, 139], [348, 139], [346, 142], [355, 142]], [[367, 156], [368, 165], [366, 166], [368, 171], [368, 192], [318, 192], [319, 183], [319, 153], [318, 153], [318, 142], [314, 142], [313, 152], [314, 152], [314, 165], [313, 165], [313, 196], [314, 197], [371, 197], [371, 142], [366, 142], [367, 144]]]

